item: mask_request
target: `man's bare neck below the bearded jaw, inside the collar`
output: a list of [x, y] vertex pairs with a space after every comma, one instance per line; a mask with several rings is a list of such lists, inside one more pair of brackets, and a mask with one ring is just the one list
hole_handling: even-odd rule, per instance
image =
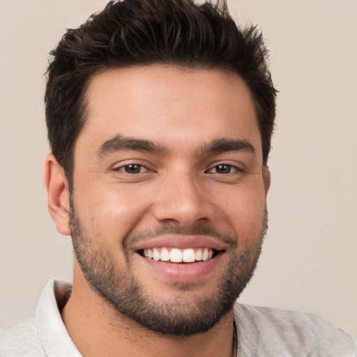
[[61, 315], [82, 356], [232, 356], [232, 311], [206, 333], [190, 337], [162, 336], [123, 317], [86, 282], [76, 280]]

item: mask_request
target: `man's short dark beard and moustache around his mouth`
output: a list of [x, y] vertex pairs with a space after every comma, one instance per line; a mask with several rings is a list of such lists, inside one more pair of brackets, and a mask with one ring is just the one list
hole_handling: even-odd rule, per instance
[[[213, 227], [197, 225], [183, 230], [173, 225], [162, 225], [142, 234], [128, 234], [123, 238], [122, 248], [126, 258], [125, 266], [118, 266], [109, 248], [105, 248], [98, 234], [89, 234], [75, 214], [73, 202], [70, 208], [70, 229], [73, 250], [84, 277], [96, 294], [99, 294], [114, 310], [137, 324], [160, 335], [176, 337], [204, 333], [220, 321], [229, 311], [248, 284], [257, 266], [261, 245], [266, 234], [267, 211], [252, 250], [239, 251], [238, 238], [223, 234]], [[141, 284], [130, 269], [132, 250], [130, 247], [142, 239], [160, 234], [185, 234], [215, 236], [228, 245], [225, 250], [227, 264], [220, 274], [213, 294], [192, 300], [187, 295], [195, 289], [195, 282], [173, 282], [175, 294], [171, 300], [160, 301]], [[131, 252], [131, 253], [130, 253]]]

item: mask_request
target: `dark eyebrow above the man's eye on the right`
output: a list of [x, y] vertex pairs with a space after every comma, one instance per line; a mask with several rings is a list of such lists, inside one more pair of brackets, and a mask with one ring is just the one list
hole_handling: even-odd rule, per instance
[[215, 139], [213, 142], [202, 145], [197, 150], [197, 155], [202, 156], [208, 153], [225, 153], [228, 151], [243, 151], [255, 154], [255, 149], [246, 139]]

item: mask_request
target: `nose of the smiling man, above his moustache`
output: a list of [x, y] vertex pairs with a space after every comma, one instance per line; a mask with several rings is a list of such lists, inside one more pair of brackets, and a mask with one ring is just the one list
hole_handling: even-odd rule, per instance
[[190, 227], [213, 219], [214, 207], [202, 180], [192, 174], [172, 174], [160, 183], [153, 213], [159, 222]]

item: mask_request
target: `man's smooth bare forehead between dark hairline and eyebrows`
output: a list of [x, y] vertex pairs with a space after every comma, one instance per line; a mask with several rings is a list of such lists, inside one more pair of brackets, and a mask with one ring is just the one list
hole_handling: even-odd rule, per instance
[[87, 120], [78, 142], [124, 135], [171, 145], [221, 137], [261, 146], [248, 86], [235, 73], [171, 66], [115, 68], [86, 89]]

